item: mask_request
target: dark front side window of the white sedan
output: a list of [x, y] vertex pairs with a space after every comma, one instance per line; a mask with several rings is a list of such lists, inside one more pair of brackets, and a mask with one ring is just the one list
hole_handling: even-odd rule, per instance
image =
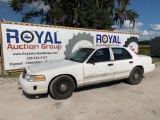
[[105, 62], [110, 61], [109, 48], [98, 49], [91, 57], [95, 59], [95, 62]]

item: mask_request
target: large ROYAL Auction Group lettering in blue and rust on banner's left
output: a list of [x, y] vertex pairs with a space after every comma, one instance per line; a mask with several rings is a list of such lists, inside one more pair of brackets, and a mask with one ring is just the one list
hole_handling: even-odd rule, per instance
[[57, 32], [28, 30], [19, 32], [16, 29], [6, 29], [6, 35], [7, 49], [62, 49]]

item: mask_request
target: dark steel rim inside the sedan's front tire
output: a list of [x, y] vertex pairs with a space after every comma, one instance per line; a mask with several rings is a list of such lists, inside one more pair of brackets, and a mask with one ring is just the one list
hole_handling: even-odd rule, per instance
[[69, 90], [69, 81], [68, 80], [61, 80], [58, 82], [56, 90], [58, 94], [63, 95], [66, 94]]

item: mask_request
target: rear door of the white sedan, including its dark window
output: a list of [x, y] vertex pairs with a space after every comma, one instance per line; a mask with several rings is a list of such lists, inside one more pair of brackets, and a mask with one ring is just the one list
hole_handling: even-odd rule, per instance
[[133, 69], [134, 61], [125, 48], [112, 48], [114, 56], [114, 79], [127, 78]]

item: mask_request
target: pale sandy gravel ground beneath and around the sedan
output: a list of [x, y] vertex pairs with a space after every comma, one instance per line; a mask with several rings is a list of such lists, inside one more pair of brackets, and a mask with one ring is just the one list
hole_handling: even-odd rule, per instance
[[160, 120], [160, 63], [139, 85], [81, 88], [65, 100], [24, 95], [17, 80], [0, 78], [0, 120]]

